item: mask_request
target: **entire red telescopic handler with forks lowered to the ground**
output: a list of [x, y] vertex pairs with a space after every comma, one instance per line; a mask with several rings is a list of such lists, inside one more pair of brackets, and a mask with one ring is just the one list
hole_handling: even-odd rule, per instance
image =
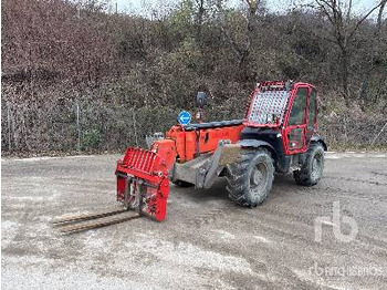
[[126, 149], [117, 162], [119, 208], [57, 218], [62, 232], [75, 232], [140, 216], [163, 221], [169, 183], [210, 188], [219, 177], [224, 193], [243, 207], [268, 197], [274, 172], [293, 173], [294, 180], [313, 186], [323, 175], [327, 149], [317, 130], [317, 91], [307, 83], [261, 82], [251, 93], [243, 120], [202, 123], [206, 94], [197, 95], [197, 124], [182, 112], [180, 124], [166, 134], [147, 137], [149, 148]]

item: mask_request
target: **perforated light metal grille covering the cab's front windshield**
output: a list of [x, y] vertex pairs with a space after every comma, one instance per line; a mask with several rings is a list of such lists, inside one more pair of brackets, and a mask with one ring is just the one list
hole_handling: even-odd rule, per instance
[[249, 123], [273, 124], [274, 116], [280, 117], [282, 123], [290, 92], [286, 91], [265, 91], [254, 95]]

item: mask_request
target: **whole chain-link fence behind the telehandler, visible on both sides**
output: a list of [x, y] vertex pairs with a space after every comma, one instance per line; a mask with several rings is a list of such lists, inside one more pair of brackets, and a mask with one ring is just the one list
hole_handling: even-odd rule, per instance
[[[114, 152], [145, 146], [145, 136], [176, 123], [179, 108], [130, 107], [97, 101], [53, 101], [1, 104], [3, 154], [48, 152]], [[229, 112], [230, 114], [230, 112]], [[218, 107], [207, 120], [234, 118]], [[240, 117], [240, 116], [239, 116]], [[380, 116], [321, 117], [320, 131], [330, 148], [386, 146], [386, 120]]]

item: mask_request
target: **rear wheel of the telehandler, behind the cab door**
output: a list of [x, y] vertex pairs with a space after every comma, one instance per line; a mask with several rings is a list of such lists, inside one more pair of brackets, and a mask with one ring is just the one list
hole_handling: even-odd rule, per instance
[[311, 143], [301, 169], [293, 172], [294, 180], [303, 186], [316, 185], [323, 177], [324, 147], [320, 143]]

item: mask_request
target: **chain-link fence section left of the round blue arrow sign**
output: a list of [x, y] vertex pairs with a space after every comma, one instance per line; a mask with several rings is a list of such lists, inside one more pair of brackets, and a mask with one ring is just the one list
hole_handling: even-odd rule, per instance
[[178, 110], [56, 102], [1, 106], [3, 153], [118, 151], [144, 146], [145, 136], [170, 127]]

